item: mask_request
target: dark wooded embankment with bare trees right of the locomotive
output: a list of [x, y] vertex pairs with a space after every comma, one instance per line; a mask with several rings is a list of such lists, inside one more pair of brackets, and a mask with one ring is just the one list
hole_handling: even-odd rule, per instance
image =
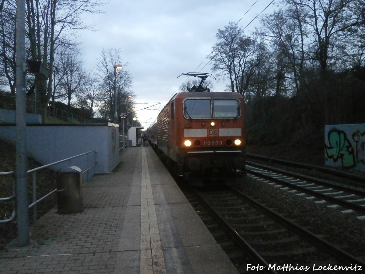
[[219, 30], [209, 56], [216, 76], [229, 77], [227, 90], [245, 97], [248, 142], [364, 123], [365, 2], [276, 3], [249, 35], [233, 22]]

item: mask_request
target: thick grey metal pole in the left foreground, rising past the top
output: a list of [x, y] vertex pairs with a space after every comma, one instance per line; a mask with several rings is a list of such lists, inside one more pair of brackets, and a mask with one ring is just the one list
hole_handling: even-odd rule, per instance
[[29, 244], [25, 90], [25, 0], [16, 1], [16, 220], [18, 246]]

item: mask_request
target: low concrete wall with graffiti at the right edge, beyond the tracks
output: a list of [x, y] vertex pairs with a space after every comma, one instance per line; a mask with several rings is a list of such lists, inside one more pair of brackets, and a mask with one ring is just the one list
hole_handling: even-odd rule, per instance
[[[326, 164], [365, 170], [365, 125], [330, 126], [324, 148]], [[327, 126], [326, 126], [327, 127]], [[359, 129], [360, 128], [360, 129]], [[325, 130], [326, 131], [326, 130]]]

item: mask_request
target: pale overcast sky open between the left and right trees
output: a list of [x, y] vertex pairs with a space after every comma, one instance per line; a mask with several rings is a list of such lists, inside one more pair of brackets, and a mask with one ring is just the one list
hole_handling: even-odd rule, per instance
[[[84, 31], [78, 38], [84, 48], [88, 68], [97, 65], [104, 49], [120, 49], [124, 68], [133, 77], [132, 91], [136, 110], [160, 102], [161, 109], [187, 79], [184, 72], [198, 72], [217, 42], [218, 29], [231, 22], [246, 27], [272, 0], [110, 0], [101, 7], [103, 14], [88, 16], [97, 31]], [[275, 2], [274, 2], [275, 3]], [[273, 5], [273, 4], [272, 4]], [[270, 5], [265, 12], [272, 11]], [[265, 13], [264, 12], [264, 13]], [[246, 29], [258, 26], [255, 19]], [[201, 64], [203, 62], [203, 64]], [[201, 64], [201, 65], [200, 65]], [[200, 66], [199, 66], [200, 65]], [[201, 72], [211, 73], [210, 65]], [[214, 91], [223, 91], [225, 83], [212, 80]], [[137, 111], [145, 129], [160, 110]]]

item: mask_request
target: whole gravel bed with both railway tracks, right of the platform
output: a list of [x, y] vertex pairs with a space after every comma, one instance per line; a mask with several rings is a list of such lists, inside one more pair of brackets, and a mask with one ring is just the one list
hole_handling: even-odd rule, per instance
[[365, 179], [280, 160], [272, 167], [260, 158], [247, 161], [246, 178], [226, 182], [238, 191], [225, 186], [189, 194], [200, 197], [193, 206], [238, 271], [364, 271]]

